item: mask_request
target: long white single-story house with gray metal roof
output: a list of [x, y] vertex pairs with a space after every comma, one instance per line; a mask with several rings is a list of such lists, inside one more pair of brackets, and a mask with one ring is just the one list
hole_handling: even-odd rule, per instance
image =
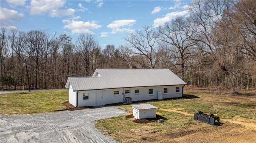
[[186, 82], [169, 69], [96, 69], [93, 76], [69, 77], [69, 103], [76, 107], [183, 96]]

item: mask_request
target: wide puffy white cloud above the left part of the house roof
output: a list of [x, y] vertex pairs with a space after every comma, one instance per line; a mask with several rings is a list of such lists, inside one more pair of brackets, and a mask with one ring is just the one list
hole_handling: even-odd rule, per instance
[[98, 29], [102, 27], [102, 25], [98, 25], [96, 21], [76, 21], [76, 20], [62, 20], [62, 22], [66, 25], [64, 25], [64, 29], [70, 29], [71, 33], [88, 33], [88, 34], [94, 34], [89, 29]]

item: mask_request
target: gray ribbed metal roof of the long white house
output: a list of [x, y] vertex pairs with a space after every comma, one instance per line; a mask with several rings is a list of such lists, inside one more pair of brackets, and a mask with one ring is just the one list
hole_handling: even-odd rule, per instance
[[74, 91], [186, 84], [169, 69], [96, 69], [95, 72], [100, 77], [69, 77], [66, 88], [70, 84]]

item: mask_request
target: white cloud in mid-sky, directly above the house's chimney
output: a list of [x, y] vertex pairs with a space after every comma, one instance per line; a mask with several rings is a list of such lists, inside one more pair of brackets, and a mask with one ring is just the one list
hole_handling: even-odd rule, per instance
[[[119, 33], [119, 32], [133, 32], [134, 29], [130, 29], [132, 25], [134, 25], [136, 20], [116, 20], [112, 22], [111, 24], [108, 24], [107, 27], [112, 29], [113, 34]], [[128, 27], [128, 28], [127, 28]]]

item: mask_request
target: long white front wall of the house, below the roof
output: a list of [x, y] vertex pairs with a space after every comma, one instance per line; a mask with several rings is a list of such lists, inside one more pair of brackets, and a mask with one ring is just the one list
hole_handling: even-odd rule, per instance
[[[180, 92], [176, 92], [176, 87], [180, 87]], [[152, 95], [148, 94], [149, 88], [153, 88], [154, 94], [152, 94]], [[168, 88], [168, 93], [164, 93], [164, 88]], [[135, 94], [134, 93], [135, 89], [140, 89], [140, 94]], [[114, 95], [115, 90], [119, 91], [118, 95]], [[102, 106], [102, 105], [106, 105], [106, 104], [124, 102], [124, 96], [123, 96], [124, 90], [130, 90], [130, 94], [125, 94], [125, 97], [131, 97], [132, 101], [157, 99], [158, 91], [162, 91], [163, 98], [182, 97], [182, 85], [180, 85], [180, 86], [141, 87], [141, 88], [119, 88], [119, 89], [106, 89], [106, 90], [89, 90], [89, 91], [79, 91], [78, 92], [78, 107]], [[83, 100], [83, 93], [85, 93], [85, 92], [87, 92], [89, 95], [88, 100]], [[76, 98], [76, 95], [74, 97]], [[76, 100], [75, 99], [73, 99], [73, 100], [75, 101], [74, 103], [76, 103]]]

